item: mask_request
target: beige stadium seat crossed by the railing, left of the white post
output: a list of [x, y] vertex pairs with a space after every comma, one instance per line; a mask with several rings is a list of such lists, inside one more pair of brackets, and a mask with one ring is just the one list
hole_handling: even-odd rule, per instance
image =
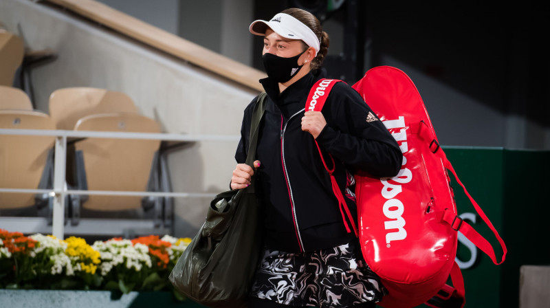
[[[0, 128], [55, 129], [54, 122], [47, 114], [25, 110], [0, 110]], [[47, 163], [53, 163], [50, 150], [54, 146], [54, 140], [53, 136], [0, 135], [0, 187], [51, 188], [41, 187], [41, 184], [47, 184], [47, 178], [43, 177], [43, 173]], [[34, 205], [34, 194], [0, 192], [0, 208], [24, 208]]]

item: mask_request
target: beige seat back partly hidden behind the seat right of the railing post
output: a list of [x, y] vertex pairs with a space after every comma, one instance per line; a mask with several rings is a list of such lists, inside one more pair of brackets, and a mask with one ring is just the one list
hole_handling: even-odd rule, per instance
[[107, 89], [74, 87], [57, 89], [50, 95], [50, 116], [57, 129], [72, 131], [76, 122], [98, 113], [138, 113], [126, 94]]

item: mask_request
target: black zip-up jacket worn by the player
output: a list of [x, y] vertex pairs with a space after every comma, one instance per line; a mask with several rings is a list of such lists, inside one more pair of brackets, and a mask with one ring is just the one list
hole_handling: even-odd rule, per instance
[[[323, 69], [316, 75], [310, 72], [283, 94], [270, 78], [260, 80], [267, 92], [267, 104], [256, 150], [261, 166], [256, 172], [265, 204], [265, 244], [275, 250], [314, 251], [348, 243], [355, 237], [344, 227], [314, 137], [301, 129], [309, 89], [324, 75]], [[235, 154], [238, 163], [246, 159], [254, 104], [256, 98], [244, 112]], [[380, 120], [366, 121], [369, 113], [373, 112], [357, 91], [336, 83], [322, 109], [327, 126], [317, 137], [325, 162], [331, 164], [326, 152], [334, 157], [333, 174], [355, 223], [357, 207], [350, 173], [363, 170], [375, 177], [393, 177], [401, 168], [402, 153], [397, 142]]]

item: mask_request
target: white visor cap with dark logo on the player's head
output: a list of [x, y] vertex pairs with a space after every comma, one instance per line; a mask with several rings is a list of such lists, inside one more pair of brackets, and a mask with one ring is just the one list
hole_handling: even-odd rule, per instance
[[289, 14], [278, 13], [270, 21], [254, 21], [249, 30], [252, 34], [263, 36], [267, 27], [286, 39], [304, 41], [309, 47], [314, 47], [316, 55], [320, 50], [319, 39], [313, 30]]

